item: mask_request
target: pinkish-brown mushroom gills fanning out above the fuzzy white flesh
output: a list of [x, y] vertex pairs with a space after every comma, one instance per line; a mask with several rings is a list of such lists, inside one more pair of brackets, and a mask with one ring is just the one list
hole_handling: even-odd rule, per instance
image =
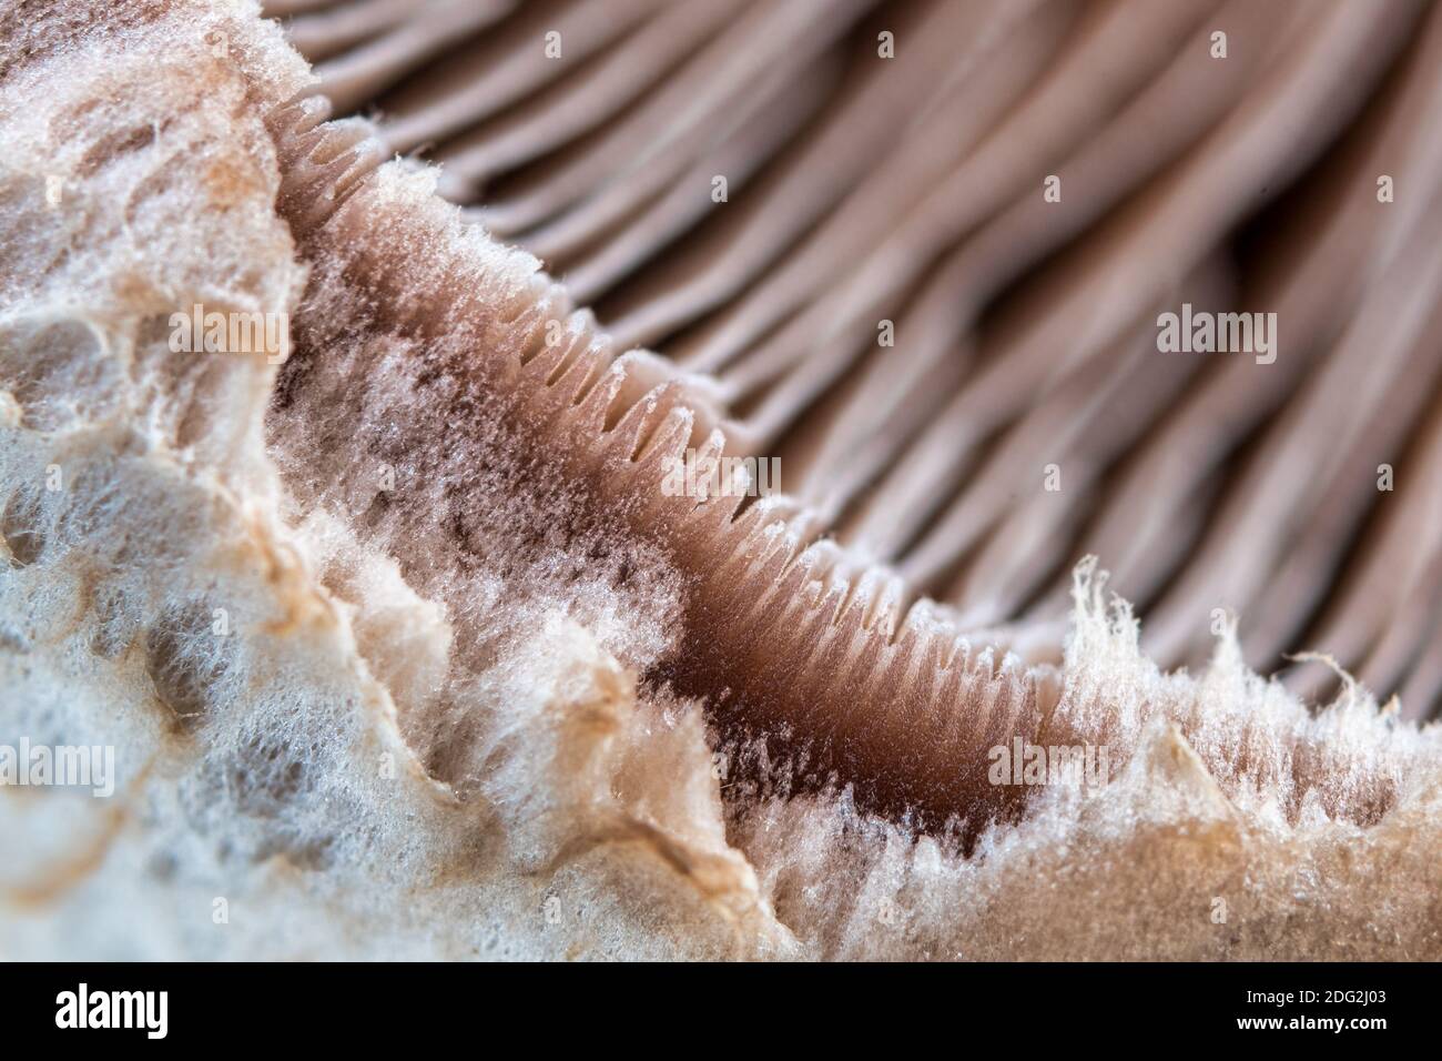
[[[385, 10], [363, 29], [379, 9], [275, 13], [381, 150], [438, 162], [467, 222], [564, 289], [489, 338], [515, 359], [500, 378], [474, 364], [479, 335], [454, 342], [459, 279], [365, 325], [425, 348], [402, 371], [427, 391], [447, 380], [401, 437], [447, 432], [460, 459], [496, 430], [476, 410], [505, 409], [506, 445], [591, 499], [588, 530], [666, 553], [682, 638], [646, 677], [766, 764], [751, 788], [784, 762], [787, 791], [849, 788], [926, 829], [1014, 817], [988, 749], [1116, 739], [1105, 712], [1057, 710], [1087, 553], [1164, 665], [1201, 663], [1227, 608], [1255, 665], [1318, 647], [1379, 694], [1406, 687], [1407, 717], [1433, 710], [1428, 6], [590, 0], [480, 6], [467, 26], [446, 4]], [[1380, 173], [1409, 193], [1380, 204]], [[313, 257], [366, 248], [348, 297], [389, 312], [389, 281], [363, 277], [399, 270], [379, 250], [395, 240], [353, 214]], [[1275, 313], [1279, 357], [1158, 352], [1154, 319], [1182, 303]], [[384, 449], [350, 430], [368, 414], [307, 435], [340, 383], [290, 414], [310, 351], [358, 328], [336, 318], [298, 344], [273, 436]], [[614, 358], [634, 344], [669, 364]], [[795, 504], [662, 497], [688, 452], [776, 456]], [[505, 533], [464, 508], [407, 533]], [[1319, 694], [1330, 673], [1285, 678]], [[1252, 775], [1244, 749], [1223, 755]], [[1293, 781], [1295, 800], [1325, 787]], [[1379, 814], [1373, 794], [1337, 810]]]

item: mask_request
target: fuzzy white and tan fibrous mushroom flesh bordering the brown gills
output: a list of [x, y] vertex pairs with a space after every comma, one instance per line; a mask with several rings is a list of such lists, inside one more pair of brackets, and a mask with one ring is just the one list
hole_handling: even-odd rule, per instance
[[[686, 570], [447, 371], [503, 377], [564, 290], [402, 162], [293, 232], [265, 114], [309, 74], [252, 4], [4, 32], [0, 743], [118, 774], [0, 790], [6, 954], [1442, 956], [1436, 728], [1311, 712], [1230, 632], [1162, 674], [1092, 567], [1051, 710], [1110, 784], [966, 853], [844, 784], [725, 794], [705, 704], [639, 681]], [[286, 312], [304, 364], [172, 352], [193, 303]]]

